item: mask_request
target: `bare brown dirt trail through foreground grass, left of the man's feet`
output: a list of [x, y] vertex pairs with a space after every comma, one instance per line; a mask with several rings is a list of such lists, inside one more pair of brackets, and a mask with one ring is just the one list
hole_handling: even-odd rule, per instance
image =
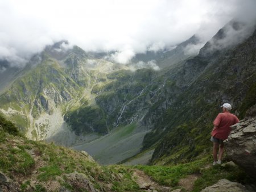
[[[186, 178], [182, 178], [177, 187], [184, 189], [185, 191], [192, 191], [193, 184], [200, 177], [200, 174], [191, 174]], [[162, 191], [168, 192], [172, 191], [171, 187], [161, 186], [158, 183], [154, 182], [147, 174], [145, 174], [142, 170], [134, 169], [133, 172], [133, 180], [138, 183], [139, 188], [142, 191]], [[177, 189], [174, 191], [181, 191], [181, 189]]]

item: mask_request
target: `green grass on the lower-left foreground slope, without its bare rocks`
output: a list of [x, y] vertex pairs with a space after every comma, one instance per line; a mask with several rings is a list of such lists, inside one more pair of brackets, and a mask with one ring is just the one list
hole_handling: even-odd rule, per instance
[[[133, 126], [130, 126], [133, 127]], [[129, 128], [128, 130], [130, 130]], [[63, 177], [66, 173], [84, 173], [97, 189], [108, 189], [112, 191], [138, 191], [139, 186], [131, 179], [132, 171], [122, 166], [100, 166], [96, 162], [88, 161], [80, 152], [73, 151], [65, 147], [59, 147], [53, 143], [26, 140], [23, 137], [10, 135], [5, 131], [0, 131], [3, 136], [0, 143], [0, 167], [1, 171], [15, 180], [16, 174], [23, 175], [27, 181], [20, 183], [20, 190], [26, 191], [30, 185], [32, 172], [36, 168], [35, 191], [46, 191], [46, 182], [56, 180], [56, 176]], [[13, 144], [15, 145], [13, 147]], [[4, 146], [4, 147], [3, 147]], [[34, 158], [27, 152], [33, 152], [40, 161], [41, 166], [35, 166]], [[34, 174], [34, 173], [33, 173]], [[120, 176], [122, 174], [122, 177]], [[35, 179], [33, 179], [35, 180]], [[108, 188], [109, 183], [112, 189]], [[61, 186], [71, 191], [85, 189], [75, 189], [71, 183], [60, 182]]]

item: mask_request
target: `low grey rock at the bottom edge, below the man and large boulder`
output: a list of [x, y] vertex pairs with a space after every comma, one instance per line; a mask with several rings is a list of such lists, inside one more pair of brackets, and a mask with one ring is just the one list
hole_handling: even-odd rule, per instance
[[206, 187], [205, 189], [201, 190], [201, 192], [247, 192], [248, 190], [245, 186], [241, 185], [240, 183], [231, 182], [229, 180], [223, 179], [218, 181], [216, 184]]

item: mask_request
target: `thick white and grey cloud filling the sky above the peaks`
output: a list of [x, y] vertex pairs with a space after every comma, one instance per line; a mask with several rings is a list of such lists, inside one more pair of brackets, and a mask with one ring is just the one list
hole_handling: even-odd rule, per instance
[[233, 18], [253, 22], [255, 7], [254, 0], [2, 0], [0, 59], [24, 66], [65, 39], [85, 51], [117, 51], [113, 59], [125, 63], [193, 34], [205, 42]]

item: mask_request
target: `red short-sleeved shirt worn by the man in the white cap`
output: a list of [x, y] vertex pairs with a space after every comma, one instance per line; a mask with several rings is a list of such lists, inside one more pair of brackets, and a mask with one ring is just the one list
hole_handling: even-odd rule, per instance
[[230, 112], [219, 113], [213, 122], [212, 136], [222, 140], [228, 139], [229, 132], [231, 131], [230, 126], [238, 122], [237, 116], [230, 114]]

